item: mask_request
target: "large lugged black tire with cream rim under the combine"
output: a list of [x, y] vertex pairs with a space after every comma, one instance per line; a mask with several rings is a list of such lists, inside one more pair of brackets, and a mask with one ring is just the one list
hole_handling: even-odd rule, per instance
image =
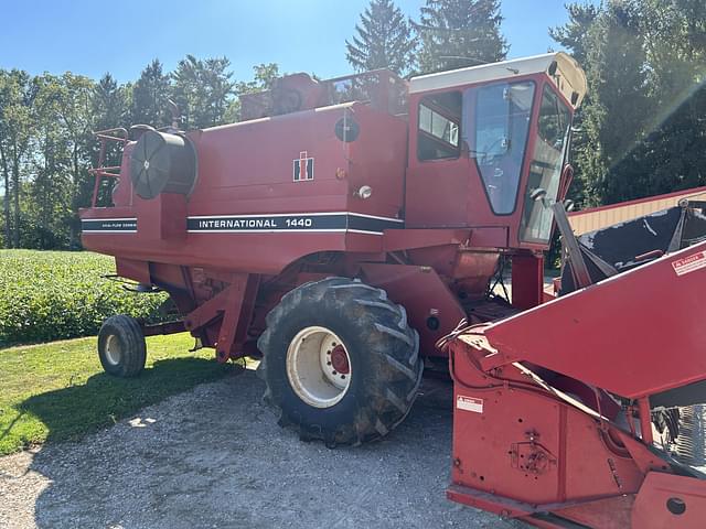
[[409, 412], [421, 381], [417, 332], [384, 290], [328, 278], [287, 293], [257, 343], [265, 400], [304, 440], [357, 445]]

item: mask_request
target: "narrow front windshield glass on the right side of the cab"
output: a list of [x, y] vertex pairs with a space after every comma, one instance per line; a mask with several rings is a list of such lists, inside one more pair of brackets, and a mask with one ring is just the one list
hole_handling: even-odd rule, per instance
[[[521, 240], [538, 244], [547, 244], [549, 240], [554, 219], [550, 206], [556, 202], [559, 191], [570, 126], [571, 112], [568, 107], [545, 85], [537, 122], [537, 141], [530, 164], [525, 207], [520, 224]], [[541, 199], [533, 198], [537, 190], [546, 191]]]

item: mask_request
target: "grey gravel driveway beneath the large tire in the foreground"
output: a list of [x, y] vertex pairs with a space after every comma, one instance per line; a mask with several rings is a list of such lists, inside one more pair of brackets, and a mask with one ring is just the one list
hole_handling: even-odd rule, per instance
[[246, 370], [81, 443], [0, 457], [0, 527], [517, 528], [450, 503], [450, 385], [357, 449], [303, 443]]

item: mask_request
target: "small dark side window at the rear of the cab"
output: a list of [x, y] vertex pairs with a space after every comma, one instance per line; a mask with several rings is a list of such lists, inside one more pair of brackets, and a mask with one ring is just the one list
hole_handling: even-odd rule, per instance
[[461, 94], [435, 94], [419, 104], [417, 155], [419, 160], [459, 158]]

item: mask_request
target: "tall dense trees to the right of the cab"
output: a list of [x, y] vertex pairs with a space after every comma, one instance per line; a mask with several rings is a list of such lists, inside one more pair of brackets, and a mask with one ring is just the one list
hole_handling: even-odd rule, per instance
[[597, 205], [706, 184], [706, 6], [608, 0], [567, 9], [569, 22], [550, 34], [582, 57], [589, 83], [575, 120], [573, 197]]

